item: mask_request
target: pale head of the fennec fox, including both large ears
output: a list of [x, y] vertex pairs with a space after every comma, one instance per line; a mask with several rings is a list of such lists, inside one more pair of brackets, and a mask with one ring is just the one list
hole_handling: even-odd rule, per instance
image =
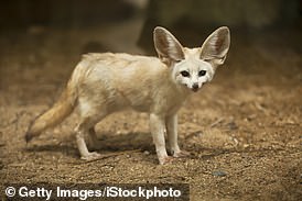
[[229, 30], [217, 29], [202, 47], [187, 48], [165, 29], [155, 27], [154, 45], [159, 58], [171, 68], [172, 79], [194, 92], [211, 81], [217, 66], [224, 64], [230, 44]]

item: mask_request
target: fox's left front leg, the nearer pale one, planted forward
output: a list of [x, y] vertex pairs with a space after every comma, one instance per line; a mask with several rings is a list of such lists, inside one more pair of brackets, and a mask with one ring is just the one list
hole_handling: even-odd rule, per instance
[[169, 163], [172, 158], [165, 149], [164, 131], [165, 119], [162, 115], [150, 114], [150, 130], [155, 144], [157, 155], [161, 165]]

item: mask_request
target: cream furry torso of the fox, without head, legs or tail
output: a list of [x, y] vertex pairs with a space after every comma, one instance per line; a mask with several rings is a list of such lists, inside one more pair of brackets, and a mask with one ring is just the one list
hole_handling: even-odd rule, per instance
[[84, 99], [140, 111], [149, 111], [158, 93], [170, 90], [169, 76], [169, 68], [155, 57], [112, 53], [84, 55], [73, 75], [80, 77], [77, 86]]

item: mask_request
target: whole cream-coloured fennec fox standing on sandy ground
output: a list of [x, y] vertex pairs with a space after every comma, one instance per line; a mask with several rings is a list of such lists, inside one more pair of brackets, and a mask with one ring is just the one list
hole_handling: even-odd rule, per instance
[[94, 126], [108, 114], [125, 108], [150, 113], [150, 130], [160, 164], [172, 157], [165, 149], [165, 133], [173, 157], [185, 155], [177, 144], [177, 111], [192, 93], [212, 80], [226, 58], [230, 36], [226, 26], [217, 29], [202, 47], [183, 47], [165, 29], [155, 27], [154, 46], [159, 58], [129, 54], [87, 54], [76, 66], [58, 101], [29, 127], [31, 141], [47, 127], [61, 123], [75, 107], [75, 127], [82, 159], [99, 157], [89, 152], [84, 136], [97, 142]]

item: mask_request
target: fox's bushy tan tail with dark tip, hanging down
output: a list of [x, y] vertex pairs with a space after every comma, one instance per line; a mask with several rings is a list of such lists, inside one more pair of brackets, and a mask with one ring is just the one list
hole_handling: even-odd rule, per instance
[[26, 143], [29, 143], [33, 137], [39, 136], [44, 130], [61, 123], [73, 112], [77, 100], [77, 90], [73, 83], [74, 81], [71, 79], [58, 101], [45, 113], [37, 116], [37, 119], [29, 126], [25, 134]]

